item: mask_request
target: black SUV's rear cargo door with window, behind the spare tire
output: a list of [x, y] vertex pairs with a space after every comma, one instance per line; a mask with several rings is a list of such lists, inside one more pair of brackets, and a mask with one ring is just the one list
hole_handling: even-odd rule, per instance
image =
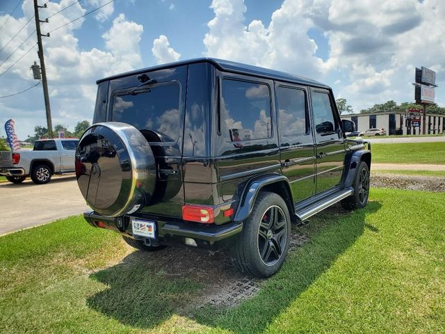
[[181, 148], [188, 67], [156, 70], [111, 81], [108, 120], [136, 127], [149, 142], [158, 170], [154, 202], [142, 212], [181, 216]]

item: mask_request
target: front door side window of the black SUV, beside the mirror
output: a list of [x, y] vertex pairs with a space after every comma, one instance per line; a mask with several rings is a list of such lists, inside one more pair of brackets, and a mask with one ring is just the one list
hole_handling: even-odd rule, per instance
[[314, 124], [317, 134], [321, 136], [332, 134], [338, 129], [327, 93], [312, 93], [312, 109], [314, 110]]

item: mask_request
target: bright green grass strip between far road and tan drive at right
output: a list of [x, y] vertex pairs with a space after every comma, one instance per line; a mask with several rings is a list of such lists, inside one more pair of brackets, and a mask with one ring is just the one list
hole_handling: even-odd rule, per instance
[[445, 164], [445, 143], [374, 143], [371, 151], [376, 164]]

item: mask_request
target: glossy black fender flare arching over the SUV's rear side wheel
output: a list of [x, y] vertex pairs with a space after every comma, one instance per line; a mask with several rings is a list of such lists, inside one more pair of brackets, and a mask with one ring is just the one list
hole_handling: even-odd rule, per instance
[[293, 203], [291, 184], [287, 177], [279, 173], [270, 173], [266, 175], [259, 175], [249, 180], [245, 185], [243, 192], [241, 193], [241, 198], [238, 202], [238, 207], [236, 208], [236, 213], [234, 215], [234, 221], [245, 221], [246, 218], [252, 214], [252, 209], [257, 200], [259, 192], [266, 186], [279, 185], [284, 186], [282, 191], [286, 191], [287, 200], [284, 199], [289, 207], [289, 214], [291, 217], [295, 215], [295, 207]]

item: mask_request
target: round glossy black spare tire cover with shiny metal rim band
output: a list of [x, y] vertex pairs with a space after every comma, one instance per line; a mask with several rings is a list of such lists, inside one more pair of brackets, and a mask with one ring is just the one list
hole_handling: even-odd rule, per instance
[[147, 205], [156, 186], [156, 162], [136, 127], [121, 122], [89, 127], [76, 150], [77, 184], [87, 204], [104, 216]]

